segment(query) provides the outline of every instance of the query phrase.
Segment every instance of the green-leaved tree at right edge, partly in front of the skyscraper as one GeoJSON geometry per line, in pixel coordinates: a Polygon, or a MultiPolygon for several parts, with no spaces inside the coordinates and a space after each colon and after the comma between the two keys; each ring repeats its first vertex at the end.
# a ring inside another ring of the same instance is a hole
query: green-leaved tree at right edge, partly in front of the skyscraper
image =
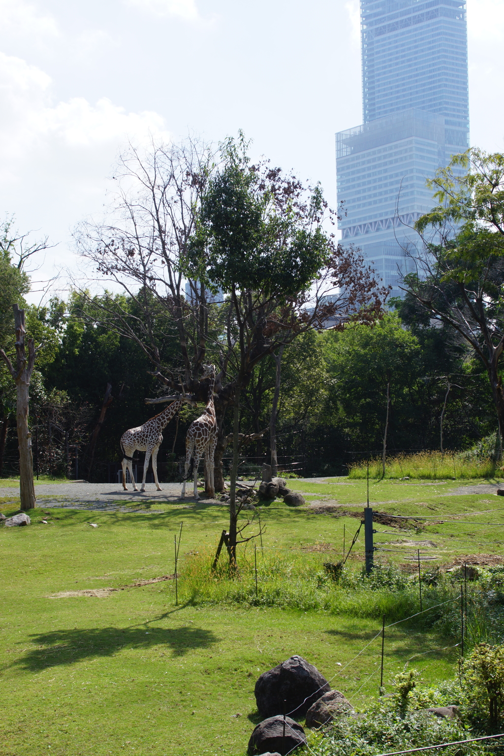
{"type": "Polygon", "coordinates": [[[416,222],[423,246],[410,252],[416,270],[404,278],[404,290],[433,321],[456,330],[484,365],[502,454],[504,155],[468,150],[439,169],[428,186],[439,204],[416,222]]]}

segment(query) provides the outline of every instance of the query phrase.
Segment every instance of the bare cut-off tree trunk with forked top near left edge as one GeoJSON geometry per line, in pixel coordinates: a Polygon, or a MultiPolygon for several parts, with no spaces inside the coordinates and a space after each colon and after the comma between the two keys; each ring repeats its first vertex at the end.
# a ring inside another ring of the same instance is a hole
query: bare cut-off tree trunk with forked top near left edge
{"type": "Polygon", "coordinates": [[[17,444],[19,447],[19,488],[21,510],[32,510],[37,506],[35,485],[33,482],[33,457],[32,457],[32,434],[29,431],[29,380],[32,376],[35,364],[35,342],[33,339],[25,341],[24,310],[18,305],[12,305],[14,310],[14,324],[16,329],[16,366],[11,363],[3,349],[0,349],[0,357],[8,367],[14,383],[16,384],[16,421],[17,421],[17,444]],[[26,345],[28,356],[26,356],[26,345]]]}

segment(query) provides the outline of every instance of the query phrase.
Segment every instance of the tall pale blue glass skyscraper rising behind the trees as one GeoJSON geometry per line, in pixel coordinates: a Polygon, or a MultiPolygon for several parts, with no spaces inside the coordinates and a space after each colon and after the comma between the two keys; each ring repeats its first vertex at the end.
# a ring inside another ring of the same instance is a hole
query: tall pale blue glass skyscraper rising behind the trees
{"type": "Polygon", "coordinates": [[[400,295],[425,180],[469,147],[465,0],[360,0],[363,124],[336,134],[342,243],[400,295]]]}

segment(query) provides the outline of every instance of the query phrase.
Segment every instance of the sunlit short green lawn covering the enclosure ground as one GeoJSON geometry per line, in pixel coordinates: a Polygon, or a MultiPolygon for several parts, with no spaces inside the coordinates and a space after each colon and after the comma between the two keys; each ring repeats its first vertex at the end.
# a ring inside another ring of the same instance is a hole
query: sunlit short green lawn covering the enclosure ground
{"type": "MultiPolygon", "coordinates": [[[[344,526],[348,547],[366,501],[366,481],[289,485],[314,507],[261,507],[264,559],[305,559],[307,569],[320,570],[322,562],[341,558],[344,526]]],[[[376,512],[432,518],[402,521],[400,528],[377,524],[382,532],[375,544],[397,548],[382,557],[404,562],[415,539],[435,544],[421,548],[437,556],[436,563],[475,553],[502,555],[500,498],[458,488],[453,481],[372,482],[369,499],[376,512]]],[[[136,513],[91,513],[47,510],[39,503],[29,528],[0,531],[2,756],[241,756],[258,721],[255,680],[295,653],[333,678],[332,686],[354,705],[365,706],[377,695],[379,640],[345,667],[379,632],[375,618],[191,603],[183,575],[179,606],[173,580],[134,586],[174,572],[173,540],[181,521],[183,559],[190,552],[212,553],[227,525],[226,507],[147,502],[136,513]],[[103,597],[54,597],[79,590],[101,590],[103,597]]],[[[0,503],[0,510],[8,515],[15,504],[0,503]]],[[[354,553],[351,564],[358,570],[362,535],[354,553]]],[[[391,628],[385,684],[411,656],[450,643],[415,624],[391,628]]],[[[443,680],[453,676],[456,654],[430,652],[414,664],[425,680],[443,680]]]]}

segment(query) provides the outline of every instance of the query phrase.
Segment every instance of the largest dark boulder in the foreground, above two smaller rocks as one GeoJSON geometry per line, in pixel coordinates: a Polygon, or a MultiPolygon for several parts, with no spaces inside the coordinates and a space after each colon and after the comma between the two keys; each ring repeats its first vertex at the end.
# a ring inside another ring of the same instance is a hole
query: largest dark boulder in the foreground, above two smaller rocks
{"type": "Polygon", "coordinates": [[[283,702],[289,714],[302,717],[323,693],[331,687],[326,678],[301,656],[263,672],[255,683],[255,701],[259,714],[274,717],[283,714],[283,702]]]}

